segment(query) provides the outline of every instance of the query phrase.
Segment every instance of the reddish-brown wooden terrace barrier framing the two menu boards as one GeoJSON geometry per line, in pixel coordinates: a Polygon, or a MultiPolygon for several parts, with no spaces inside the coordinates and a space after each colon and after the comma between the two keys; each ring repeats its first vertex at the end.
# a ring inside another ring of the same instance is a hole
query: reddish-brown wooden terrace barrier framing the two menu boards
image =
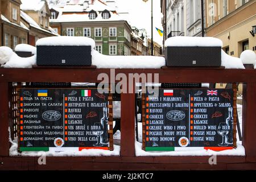
{"type": "Polygon", "coordinates": [[[120,156],[47,157],[47,165],[39,165],[38,157],[9,156],[9,125],[16,114],[12,82],[97,82],[97,76],[110,69],[32,68],[0,69],[0,169],[63,170],[176,170],[176,169],[256,169],[256,70],[214,68],[115,69],[115,74],[159,73],[159,82],[243,82],[242,144],[246,156],[135,156],[134,93],[121,94],[120,156]]]}

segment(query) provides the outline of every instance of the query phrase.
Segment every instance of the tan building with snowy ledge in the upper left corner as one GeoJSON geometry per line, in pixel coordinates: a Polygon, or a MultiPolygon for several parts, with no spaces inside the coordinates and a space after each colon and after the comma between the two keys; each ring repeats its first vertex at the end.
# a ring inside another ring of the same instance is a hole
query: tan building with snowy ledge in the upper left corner
{"type": "Polygon", "coordinates": [[[27,43],[29,29],[20,20],[19,0],[1,0],[1,44],[12,49],[27,43]]]}

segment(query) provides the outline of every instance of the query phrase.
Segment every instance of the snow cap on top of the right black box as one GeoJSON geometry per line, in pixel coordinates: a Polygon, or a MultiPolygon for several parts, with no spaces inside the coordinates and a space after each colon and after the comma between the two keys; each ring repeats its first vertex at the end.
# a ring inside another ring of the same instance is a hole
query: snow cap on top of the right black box
{"type": "Polygon", "coordinates": [[[222,41],[212,37],[197,37],[197,36],[173,36],[168,38],[164,46],[184,46],[184,47],[222,47],[222,41]]]}

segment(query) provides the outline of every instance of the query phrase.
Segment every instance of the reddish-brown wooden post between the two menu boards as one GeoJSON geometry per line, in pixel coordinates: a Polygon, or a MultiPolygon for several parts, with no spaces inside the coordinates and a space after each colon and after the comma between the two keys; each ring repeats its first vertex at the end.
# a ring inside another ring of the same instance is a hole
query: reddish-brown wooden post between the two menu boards
{"type": "Polygon", "coordinates": [[[134,93],[121,93],[121,156],[135,156],[134,97],[134,93]]]}

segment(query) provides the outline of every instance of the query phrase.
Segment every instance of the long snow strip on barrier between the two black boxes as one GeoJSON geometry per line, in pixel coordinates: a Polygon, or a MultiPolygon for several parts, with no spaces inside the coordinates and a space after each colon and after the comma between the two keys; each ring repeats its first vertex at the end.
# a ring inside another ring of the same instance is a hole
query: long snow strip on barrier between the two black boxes
{"type": "Polygon", "coordinates": [[[97,68],[161,68],[166,65],[164,57],[157,56],[108,56],[92,51],[92,65],[97,68]]]}

